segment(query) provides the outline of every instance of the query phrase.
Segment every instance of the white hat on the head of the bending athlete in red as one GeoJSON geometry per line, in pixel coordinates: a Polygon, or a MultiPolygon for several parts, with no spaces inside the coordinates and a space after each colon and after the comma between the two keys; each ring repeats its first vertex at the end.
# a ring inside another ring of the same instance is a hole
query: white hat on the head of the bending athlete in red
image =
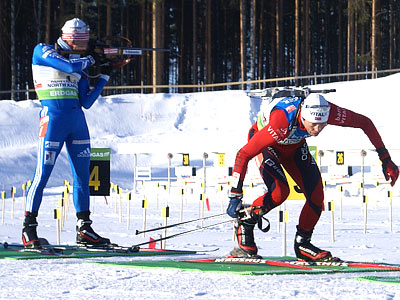
{"type": "Polygon", "coordinates": [[[326,123],[330,108],[324,96],[312,93],[301,104],[301,117],[311,123],[326,123]]]}

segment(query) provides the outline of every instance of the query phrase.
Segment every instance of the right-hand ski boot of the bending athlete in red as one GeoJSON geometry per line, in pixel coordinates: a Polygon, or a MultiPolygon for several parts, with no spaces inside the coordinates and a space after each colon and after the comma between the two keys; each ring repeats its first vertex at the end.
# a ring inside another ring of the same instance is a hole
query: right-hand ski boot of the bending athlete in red
{"type": "Polygon", "coordinates": [[[306,232],[297,226],[297,233],[294,240],[294,252],[299,260],[308,262],[338,260],[338,258],[333,257],[329,251],[321,250],[311,244],[311,235],[312,232],[306,232]]]}

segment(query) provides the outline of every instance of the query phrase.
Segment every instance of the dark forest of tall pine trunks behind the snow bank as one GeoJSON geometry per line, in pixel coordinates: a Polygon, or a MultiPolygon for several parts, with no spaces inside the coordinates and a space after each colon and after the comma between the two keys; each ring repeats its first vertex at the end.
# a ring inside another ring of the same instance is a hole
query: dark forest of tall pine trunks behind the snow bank
{"type": "MultiPolygon", "coordinates": [[[[397,0],[2,0],[0,92],[33,88],[34,46],[55,43],[73,17],[89,24],[91,38],[124,36],[135,47],[171,49],[135,56],[109,86],[198,85],[400,67],[397,0]]],[[[0,99],[10,94],[0,93],[0,99]]]]}

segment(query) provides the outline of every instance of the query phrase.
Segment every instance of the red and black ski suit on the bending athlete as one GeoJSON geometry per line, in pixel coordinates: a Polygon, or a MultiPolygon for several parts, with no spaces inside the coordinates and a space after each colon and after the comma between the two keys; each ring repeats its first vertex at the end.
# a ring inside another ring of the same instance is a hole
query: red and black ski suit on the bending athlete
{"type": "MultiPolygon", "coordinates": [[[[369,118],[333,103],[329,104],[329,125],[360,128],[376,149],[384,147],[369,118]]],[[[264,124],[263,120],[260,122],[260,118],[253,124],[247,144],[236,155],[233,168],[236,181],[232,192],[242,192],[248,162],[257,156],[257,165],[268,192],[254,200],[252,206],[261,206],[261,213],[268,213],[281,205],[289,195],[283,166],[305,195],[306,202],[300,214],[298,228],[311,236],[321,215],[324,193],[321,173],[308,151],[305,138],[310,135],[302,124],[300,107],[300,98],[284,98],[271,110],[269,119],[264,117],[264,124]]],[[[258,213],[259,210],[255,212],[258,213]]]]}

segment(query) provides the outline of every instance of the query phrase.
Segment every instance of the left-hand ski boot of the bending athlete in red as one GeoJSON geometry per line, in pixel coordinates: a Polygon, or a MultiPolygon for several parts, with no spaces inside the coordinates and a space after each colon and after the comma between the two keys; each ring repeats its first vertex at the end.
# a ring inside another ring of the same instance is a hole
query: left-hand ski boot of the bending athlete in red
{"type": "MultiPolygon", "coordinates": [[[[242,211],[245,211],[243,209],[242,211]]],[[[257,255],[257,245],[254,242],[254,226],[258,222],[258,215],[253,212],[242,213],[234,221],[235,235],[239,248],[231,252],[235,257],[262,258],[257,255]]]]}

